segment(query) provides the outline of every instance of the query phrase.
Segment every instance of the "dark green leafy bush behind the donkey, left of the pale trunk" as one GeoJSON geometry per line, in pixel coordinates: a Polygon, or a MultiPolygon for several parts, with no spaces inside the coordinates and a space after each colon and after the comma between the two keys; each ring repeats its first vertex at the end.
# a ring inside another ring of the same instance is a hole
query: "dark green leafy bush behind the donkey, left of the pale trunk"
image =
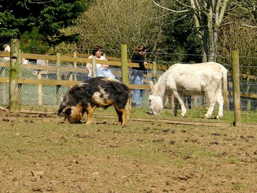
{"type": "Polygon", "coordinates": [[[194,21],[189,15],[170,14],[166,18],[163,31],[167,39],[160,46],[168,55],[166,61],[201,62],[200,45],[194,27],[194,21]],[[175,21],[175,22],[174,22],[175,21]]]}

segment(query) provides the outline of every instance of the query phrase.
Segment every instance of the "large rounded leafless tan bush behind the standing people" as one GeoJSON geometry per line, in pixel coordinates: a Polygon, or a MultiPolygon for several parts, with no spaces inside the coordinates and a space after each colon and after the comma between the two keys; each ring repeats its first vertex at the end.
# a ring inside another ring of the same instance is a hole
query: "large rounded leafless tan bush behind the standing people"
{"type": "Polygon", "coordinates": [[[91,49],[98,44],[112,56],[120,56],[121,44],[133,51],[137,45],[154,50],[164,38],[159,14],[160,8],[147,1],[96,0],[74,28],[81,38],[78,47],[91,49]]]}

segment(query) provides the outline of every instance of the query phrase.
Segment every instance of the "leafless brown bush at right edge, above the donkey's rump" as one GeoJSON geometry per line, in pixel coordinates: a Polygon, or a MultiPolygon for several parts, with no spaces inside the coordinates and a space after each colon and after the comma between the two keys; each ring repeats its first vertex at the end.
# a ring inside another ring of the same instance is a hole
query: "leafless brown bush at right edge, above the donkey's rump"
{"type": "MultiPolygon", "coordinates": [[[[244,23],[244,18],[234,18],[234,23],[244,23]]],[[[242,25],[231,24],[221,27],[218,41],[217,60],[227,69],[232,70],[231,51],[239,50],[240,73],[256,76],[257,71],[257,30],[242,25]],[[235,33],[236,32],[236,33],[235,33]]]]}

